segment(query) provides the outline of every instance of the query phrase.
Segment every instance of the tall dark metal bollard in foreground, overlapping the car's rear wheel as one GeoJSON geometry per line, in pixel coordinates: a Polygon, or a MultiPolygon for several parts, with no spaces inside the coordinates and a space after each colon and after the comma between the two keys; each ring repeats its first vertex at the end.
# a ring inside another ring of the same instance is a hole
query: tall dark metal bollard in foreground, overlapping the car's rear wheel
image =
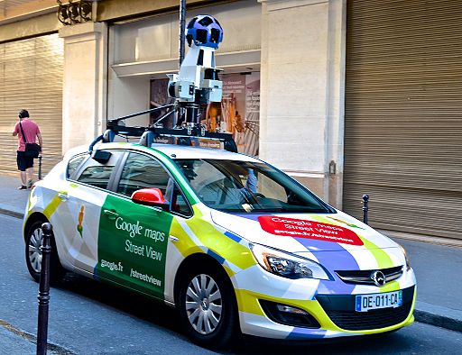
{"type": "Polygon", "coordinates": [[[51,236],[53,227],[51,223],[42,224],[43,241],[42,250],[42,270],[40,273],[39,286],[39,319],[37,324],[37,355],[47,353],[48,337],[48,305],[50,303],[50,257],[51,257],[51,236]]]}

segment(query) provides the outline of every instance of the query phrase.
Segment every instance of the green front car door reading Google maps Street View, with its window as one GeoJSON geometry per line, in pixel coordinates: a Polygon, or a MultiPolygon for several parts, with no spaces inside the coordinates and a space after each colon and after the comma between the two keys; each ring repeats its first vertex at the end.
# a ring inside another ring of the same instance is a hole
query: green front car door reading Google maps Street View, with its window
{"type": "Polygon", "coordinates": [[[157,187],[168,199],[170,176],[148,155],[130,152],[115,194],[101,210],[97,275],[163,299],[165,261],[172,214],[138,205],[130,196],[157,187]]]}

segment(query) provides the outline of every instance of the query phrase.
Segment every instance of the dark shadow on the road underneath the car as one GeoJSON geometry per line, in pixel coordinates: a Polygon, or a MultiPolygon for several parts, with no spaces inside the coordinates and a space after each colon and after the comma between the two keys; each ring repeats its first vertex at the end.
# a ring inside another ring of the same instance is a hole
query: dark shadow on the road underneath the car
{"type": "MultiPolygon", "coordinates": [[[[68,273],[58,284],[53,286],[63,292],[70,292],[83,296],[105,306],[109,306],[131,317],[141,319],[158,329],[175,333],[182,341],[189,342],[182,331],[180,318],[174,308],[149,298],[141,296],[110,284],[68,273]]],[[[233,341],[226,350],[219,350],[222,354],[369,354],[387,353],[384,344],[393,344],[400,350],[411,349],[405,339],[397,332],[368,335],[361,337],[337,338],[333,340],[310,341],[275,341],[252,336],[241,335],[233,341]],[[408,346],[407,346],[408,345],[408,346]],[[352,351],[354,349],[354,351],[352,351]]],[[[394,348],[394,346],[393,346],[394,348]]],[[[388,348],[390,349],[390,348],[388,348]]]]}

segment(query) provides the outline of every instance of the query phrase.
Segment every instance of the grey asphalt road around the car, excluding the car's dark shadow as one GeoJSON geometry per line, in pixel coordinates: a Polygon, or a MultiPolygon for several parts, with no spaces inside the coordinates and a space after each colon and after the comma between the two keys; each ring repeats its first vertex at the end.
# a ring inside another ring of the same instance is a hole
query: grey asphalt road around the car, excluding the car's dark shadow
{"type": "MultiPolygon", "coordinates": [[[[37,284],[25,267],[21,221],[0,215],[0,225],[0,327],[5,332],[8,323],[33,334],[37,284]]],[[[71,274],[59,287],[51,288],[49,339],[77,354],[212,353],[188,341],[171,308],[71,274]]],[[[291,345],[246,338],[222,352],[457,354],[460,349],[462,333],[415,323],[388,335],[327,344],[291,345]]]]}

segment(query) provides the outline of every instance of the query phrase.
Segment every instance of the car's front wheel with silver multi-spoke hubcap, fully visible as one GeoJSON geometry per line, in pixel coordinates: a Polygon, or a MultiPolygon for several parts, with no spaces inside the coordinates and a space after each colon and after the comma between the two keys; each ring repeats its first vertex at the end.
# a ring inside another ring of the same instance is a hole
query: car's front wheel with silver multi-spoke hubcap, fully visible
{"type": "Polygon", "coordinates": [[[180,279],[178,302],[181,323],[198,345],[220,349],[236,336],[235,291],[216,265],[189,269],[180,279]]]}

